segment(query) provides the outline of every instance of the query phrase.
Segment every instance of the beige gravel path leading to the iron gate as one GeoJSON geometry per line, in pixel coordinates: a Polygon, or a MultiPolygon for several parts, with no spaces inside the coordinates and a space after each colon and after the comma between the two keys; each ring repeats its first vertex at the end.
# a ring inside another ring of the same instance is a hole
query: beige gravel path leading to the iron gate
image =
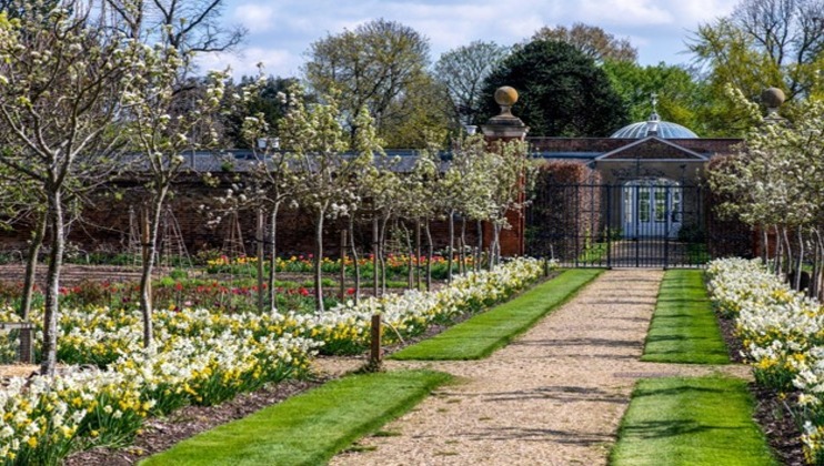
{"type": "Polygon", "coordinates": [[[332,465],[602,465],[637,378],[723,372],[639,361],[663,272],[609,271],[516,342],[474,362],[388,362],[455,375],[332,465]],[[374,448],[374,449],[372,449],[374,448]]]}

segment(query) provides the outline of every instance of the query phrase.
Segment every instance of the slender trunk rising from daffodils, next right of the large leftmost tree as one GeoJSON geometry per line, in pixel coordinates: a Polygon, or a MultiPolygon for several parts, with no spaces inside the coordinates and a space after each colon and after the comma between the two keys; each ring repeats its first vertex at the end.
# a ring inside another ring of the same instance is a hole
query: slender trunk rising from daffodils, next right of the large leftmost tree
{"type": "Polygon", "coordinates": [[[140,312],[143,317],[143,347],[149,347],[154,340],[152,325],[152,270],[154,252],[158,247],[160,216],[165,201],[167,190],[161,189],[143,215],[143,270],[140,274],[140,312]]]}

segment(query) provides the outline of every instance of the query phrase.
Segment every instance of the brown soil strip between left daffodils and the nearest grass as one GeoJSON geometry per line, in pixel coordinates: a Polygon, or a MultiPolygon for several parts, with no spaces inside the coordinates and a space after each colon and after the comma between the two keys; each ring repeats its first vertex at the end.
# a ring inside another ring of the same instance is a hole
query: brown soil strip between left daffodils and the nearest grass
{"type": "Polygon", "coordinates": [[[128,466],[221,424],[240,419],[321,385],[322,379],[288,381],[237,396],[218,406],[188,406],[165,418],[149,418],[134,443],[127,448],[92,448],[63,459],[64,466],[128,466]]]}

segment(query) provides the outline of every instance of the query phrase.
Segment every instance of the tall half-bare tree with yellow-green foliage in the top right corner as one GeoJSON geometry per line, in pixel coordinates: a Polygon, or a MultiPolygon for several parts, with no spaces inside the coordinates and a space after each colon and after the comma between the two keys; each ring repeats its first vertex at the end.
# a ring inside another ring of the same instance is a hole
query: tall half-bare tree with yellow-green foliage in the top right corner
{"type": "Polygon", "coordinates": [[[701,119],[711,134],[742,135],[747,129],[748,115],[727,98],[727,84],[751,100],[778,87],[790,107],[822,95],[822,18],[824,3],[816,0],[745,0],[728,17],[699,27],[689,50],[709,85],[701,119]]]}

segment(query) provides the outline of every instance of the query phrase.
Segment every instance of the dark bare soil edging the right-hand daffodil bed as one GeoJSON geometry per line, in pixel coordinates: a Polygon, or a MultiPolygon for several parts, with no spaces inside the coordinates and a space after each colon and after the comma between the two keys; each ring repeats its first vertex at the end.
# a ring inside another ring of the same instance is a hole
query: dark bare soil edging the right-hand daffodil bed
{"type": "MultiPolygon", "coordinates": [[[[744,346],[741,340],[735,336],[735,323],[733,320],[719,317],[719,326],[726,342],[726,347],[730,351],[730,358],[735,363],[745,363],[742,353],[744,346]]],[[[775,457],[783,465],[805,465],[801,432],[787,407],[794,403],[793,398],[796,395],[790,394],[785,399],[782,399],[775,391],[755,383],[751,383],[748,388],[753,398],[755,398],[755,413],[753,417],[764,432],[775,457]]]]}

